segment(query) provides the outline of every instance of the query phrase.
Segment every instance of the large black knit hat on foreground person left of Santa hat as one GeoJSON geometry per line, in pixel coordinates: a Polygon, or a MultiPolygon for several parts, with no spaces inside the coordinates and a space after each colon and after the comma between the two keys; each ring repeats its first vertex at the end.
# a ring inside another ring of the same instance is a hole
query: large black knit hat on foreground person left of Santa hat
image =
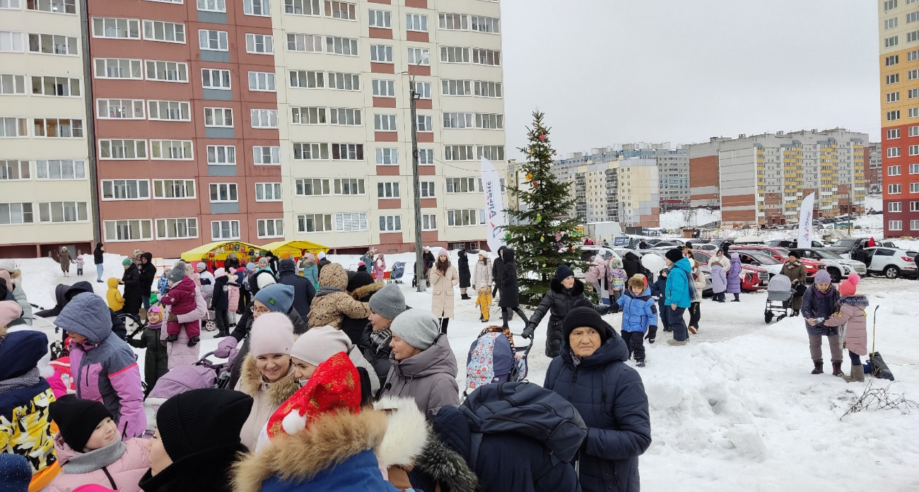
{"type": "Polygon", "coordinates": [[[156,429],[166,454],[177,462],[196,452],[239,444],[252,404],[252,396],[217,388],[169,398],[156,412],[156,429]]]}

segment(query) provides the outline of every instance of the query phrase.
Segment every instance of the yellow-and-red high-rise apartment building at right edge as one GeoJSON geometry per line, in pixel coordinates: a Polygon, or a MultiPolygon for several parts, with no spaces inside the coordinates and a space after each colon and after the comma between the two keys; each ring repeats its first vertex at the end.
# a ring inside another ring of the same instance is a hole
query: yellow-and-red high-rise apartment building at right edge
{"type": "Polygon", "coordinates": [[[919,235],[919,1],[879,0],[884,235],[919,235]]]}

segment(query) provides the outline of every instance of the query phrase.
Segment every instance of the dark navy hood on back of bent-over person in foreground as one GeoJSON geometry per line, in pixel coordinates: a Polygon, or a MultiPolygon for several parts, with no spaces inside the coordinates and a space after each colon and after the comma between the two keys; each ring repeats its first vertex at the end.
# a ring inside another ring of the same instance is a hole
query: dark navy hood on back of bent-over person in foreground
{"type": "Polygon", "coordinates": [[[459,406],[471,422],[471,466],[484,434],[516,432],[541,442],[553,460],[571,463],[587,436],[584,419],[568,400],[528,382],[485,384],[459,406]]]}

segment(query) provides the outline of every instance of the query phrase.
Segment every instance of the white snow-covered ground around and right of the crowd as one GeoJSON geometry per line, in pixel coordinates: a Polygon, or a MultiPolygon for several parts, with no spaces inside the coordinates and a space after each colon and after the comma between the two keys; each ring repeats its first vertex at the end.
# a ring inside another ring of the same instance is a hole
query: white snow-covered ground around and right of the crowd
{"type": "MultiPolygon", "coordinates": [[[[346,268],[357,265],[357,257],[331,259],[346,268]]],[[[411,254],[387,259],[405,261],[410,268],[414,263],[411,254]]],[[[107,257],[108,275],[119,274],[119,260],[107,257]]],[[[48,258],[20,264],[32,303],[50,306],[51,290],[60,281],[93,281],[104,295],[105,284],[95,283],[95,270],[86,269],[83,279],[63,279],[48,258]]],[[[402,285],[407,302],[429,308],[430,294],[411,290],[411,275],[406,271],[402,285]]],[[[919,315],[919,281],[869,278],[860,292],[872,304],[869,313],[880,306],[877,349],[897,378],[896,383],[875,384],[919,401],[919,330],[913,325],[919,315]]],[[[641,457],[642,490],[919,490],[919,412],[872,410],[841,419],[866,383],[811,375],[803,320],[766,325],[766,294],[743,294],[741,299],[702,303],[700,332],[686,347],[666,345],[663,332],[648,346],[648,366],[639,371],[651,402],[653,442],[641,457]]],[[[460,387],[465,385],[466,354],[485,326],[474,303],[460,301],[457,289],[457,319],[450,322],[449,338],[459,362],[460,387]]],[[[617,328],[620,318],[606,316],[617,328]]],[[[492,321],[500,324],[496,306],[492,321]]],[[[543,354],[547,322],[548,316],[529,355],[529,379],[536,383],[542,383],[550,362],[543,354]]],[[[522,328],[518,318],[512,321],[513,331],[522,328]]],[[[204,334],[202,353],[216,348],[212,336],[204,334]]],[[[825,342],[823,350],[828,360],[825,342]]],[[[847,372],[847,357],[843,367],[847,372]]]]}

